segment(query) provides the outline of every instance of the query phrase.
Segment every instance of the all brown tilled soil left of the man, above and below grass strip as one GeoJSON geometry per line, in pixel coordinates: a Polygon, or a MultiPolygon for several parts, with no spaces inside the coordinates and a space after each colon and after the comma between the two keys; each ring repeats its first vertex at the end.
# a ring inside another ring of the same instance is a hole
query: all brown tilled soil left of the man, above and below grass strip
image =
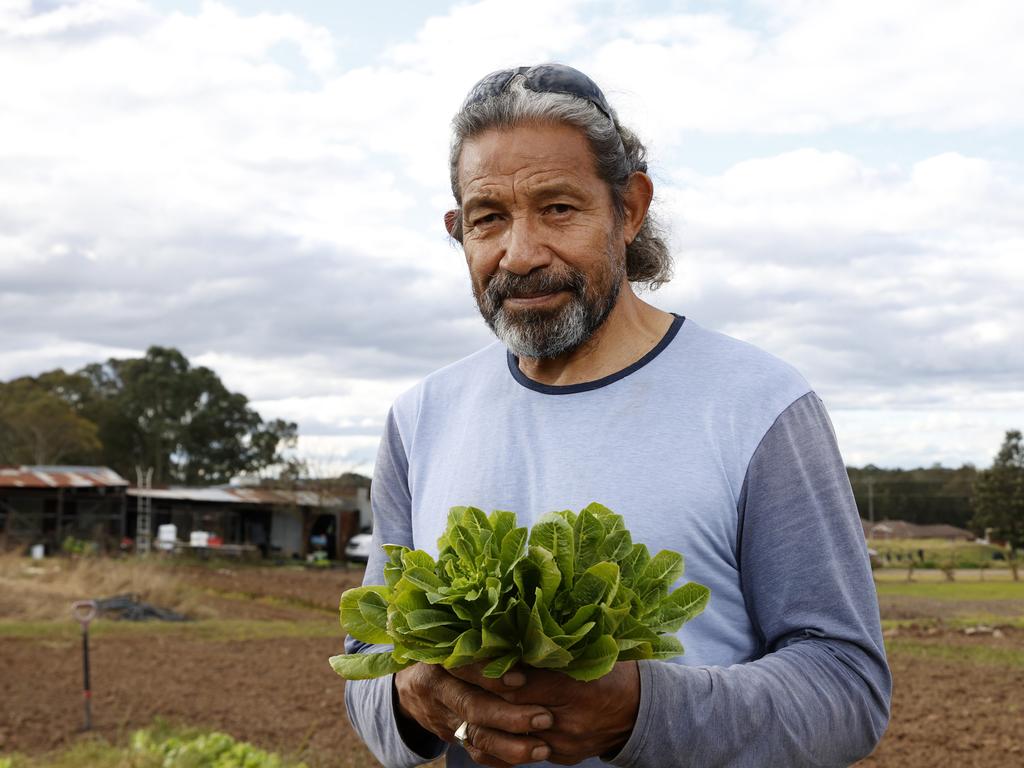
{"type": "MultiPolygon", "coordinates": [[[[216,620],[276,622],[311,637],[244,637],[152,624],[90,641],[93,730],[123,740],[158,716],[214,728],[310,768],[347,768],[376,761],[345,716],[344,681],[328,658],[341,652],[337,622],[341,592],[361,570],[175,568],[201,595],[203,614],[216,620]],[[141,630],[141,631],[137,631],[141,630]]],[[[3,616],[0,616],[2,618],[3,616]]],[[[118,628],[122,629],[122,628],[118,628]]],[[[0,637],[0,754],[39,754],[80,738],[81,640],[0,637]]]]}

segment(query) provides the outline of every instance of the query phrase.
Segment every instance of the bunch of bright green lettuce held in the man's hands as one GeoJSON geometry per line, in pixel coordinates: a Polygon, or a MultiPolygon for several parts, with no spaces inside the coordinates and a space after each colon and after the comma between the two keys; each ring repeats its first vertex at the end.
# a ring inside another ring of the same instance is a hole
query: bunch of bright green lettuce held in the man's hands
{"type": "Polygon", "coordinates": [[[434,560],[386,544],[385,584],[344,592],[342,629],[394,650],[332,656],[335,672],[358,680],[417,662],[484,662],[498,678],[522,663],[595,680],[615,662],[681,654],[674,633],[711,595],[693,582],[670,592],[682,555],[651,557],[597,503],[546,514],[528,534],[513,512],[453,507],[437,546],[434,560]]]}

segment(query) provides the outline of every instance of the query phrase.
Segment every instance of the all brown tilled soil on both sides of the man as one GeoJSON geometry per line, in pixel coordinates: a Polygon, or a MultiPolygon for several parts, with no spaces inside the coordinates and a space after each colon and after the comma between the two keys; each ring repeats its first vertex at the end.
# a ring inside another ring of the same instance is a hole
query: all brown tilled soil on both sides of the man
{"type": "MultiPolygon", "coordinates": [[[[221,620],[274,621],[308,636],[230,639],[190,628],[116,632],[91,643],[96,731],[122,740],[162,716],[216,728],[311,768],[375,765],[344,714],[344,681],[327,664],[342,646],[336,606],[358,571],[196,568],[181,575],[221,620]]],[[[1024,765],[1024,631],[890,633],[892,724],[862,765],[1024,765]],[[978,658],[991,649],[996,660],[978,658]],[[932,651],[936,652],[933,653],[932,651]]],[[[39,754],[80,738],[80,641],[0,638],[0,754],[39,754]]]]}

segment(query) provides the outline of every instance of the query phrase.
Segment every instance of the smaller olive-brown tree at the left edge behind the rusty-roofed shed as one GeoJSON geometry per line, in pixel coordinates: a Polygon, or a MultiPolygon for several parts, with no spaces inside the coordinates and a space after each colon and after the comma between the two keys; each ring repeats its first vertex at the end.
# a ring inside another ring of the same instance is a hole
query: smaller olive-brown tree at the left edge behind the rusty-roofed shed
{"type": "Polygon", "coordinates": [[[101,450],[96,425],[36,380],[0,382],[0,464],[90,464],[101,450]]]}

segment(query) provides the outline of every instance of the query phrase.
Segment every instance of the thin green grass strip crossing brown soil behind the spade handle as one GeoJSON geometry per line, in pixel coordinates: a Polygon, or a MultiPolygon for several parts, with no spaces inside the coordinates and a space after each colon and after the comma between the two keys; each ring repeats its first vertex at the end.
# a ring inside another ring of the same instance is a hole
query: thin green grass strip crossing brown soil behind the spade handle
{"type": "MultiPolygon", "coordinates": [[[[82,630],[72,622],[0,621],[0,638],[32,640],[78,640],[82,630]]],[[[344,637],[337,620],[325,616],[316,621],[256,621],[216,618],[203,622],[112,622],[99,620],[89,628],[90,639],[162,635],[203,641],[237,642],[270,640],[284,637],[344,637]]],[[[0,767],[2,768],[2,767],[0,767]]]]}

